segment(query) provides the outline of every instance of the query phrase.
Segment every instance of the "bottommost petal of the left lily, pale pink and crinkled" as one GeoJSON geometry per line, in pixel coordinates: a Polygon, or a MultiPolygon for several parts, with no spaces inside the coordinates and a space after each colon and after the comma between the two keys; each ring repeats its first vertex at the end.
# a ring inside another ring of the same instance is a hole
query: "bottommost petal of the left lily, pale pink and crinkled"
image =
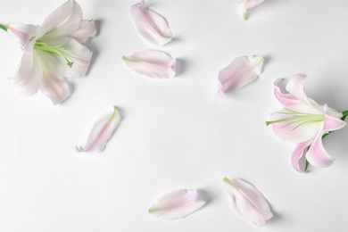
{"type": "Polygon", "coordinates": [[[54,105],[62,103],[70,95],[69,86],[65,79],[57,75],[56,72],[48,69],[43,70],[42,77],[40,90],[52,100],[54,105]]]}

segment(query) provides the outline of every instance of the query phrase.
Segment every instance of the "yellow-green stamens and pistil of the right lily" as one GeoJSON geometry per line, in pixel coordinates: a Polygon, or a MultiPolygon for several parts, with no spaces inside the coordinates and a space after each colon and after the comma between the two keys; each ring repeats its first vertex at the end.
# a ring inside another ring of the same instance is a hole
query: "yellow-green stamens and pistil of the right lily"
{"type": "Polygon", "coordinates": [[[266,121],[266,126],[269,126],[273,123],[278,122],[286,122],[288,121],[284,127],[292,125],[294,123],[298,123],[298,125],[295,128],[298,128],[299,126],[305,124],[305,123],[313,123],[313,122],[320,122],[324,120],[324,114],[312,114],[312,113],[305,113],[305,112],[294,112],[289,109],[285,109],[287,112],[277,112],[278,114],[285,114],[288,117],[279,119],[279,120],[268,120],[266,121]]]}

